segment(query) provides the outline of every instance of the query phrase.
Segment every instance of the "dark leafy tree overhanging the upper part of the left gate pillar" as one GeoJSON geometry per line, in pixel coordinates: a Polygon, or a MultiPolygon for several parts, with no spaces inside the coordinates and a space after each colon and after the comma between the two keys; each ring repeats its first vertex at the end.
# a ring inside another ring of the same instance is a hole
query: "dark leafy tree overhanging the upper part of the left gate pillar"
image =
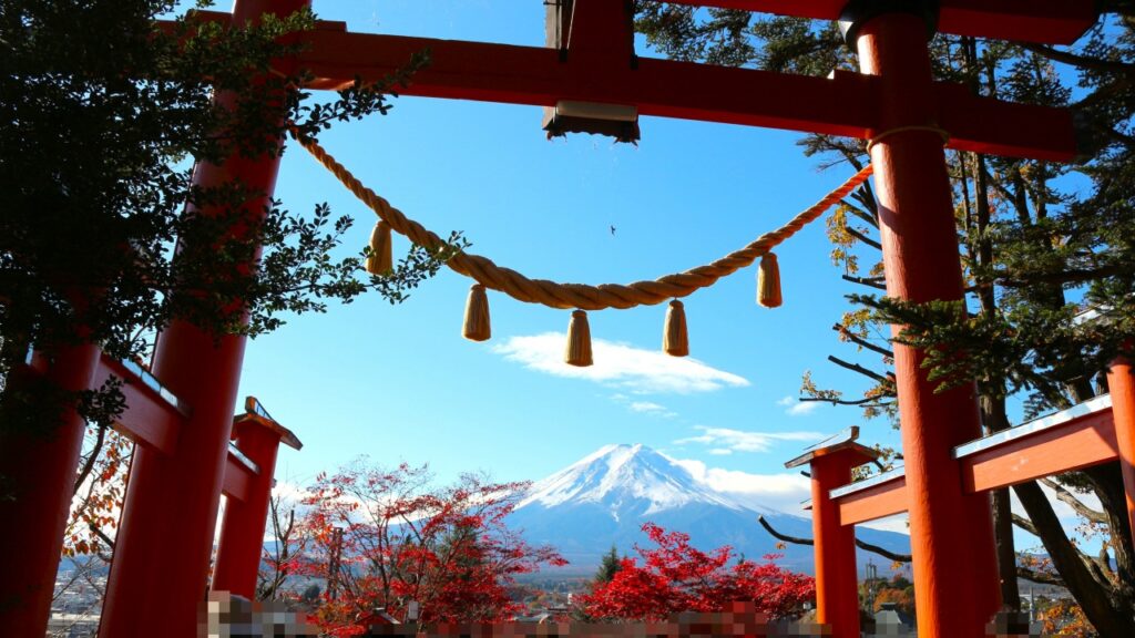
{"type": "Polygon", "coordinates": [[[74,396],[12,377],[32,346],[51,355],[95,343],[144,360],[174,320],[218,337],[255,336],[288,312],[322,312],[369,289],[401,300],[442,263],[429,257],[389,277],[360,277],[363,254],[333,257],[348,218],[334,219],[326,205],[294,215],[278,202],[260,218],[244,210],[259,193],[242,183],[191,184],[194,162],[278,153],[288,132],[314,137],[333,123],[386,114],[386,94],[424,54],[382,82],[313,103],[295,89],[302,74],[274,66],[297,50],[288,34],[314,26],[310,12],[232,28],[192,12],[155,22],[177,5],[0,7],[0,445],[50,436],[56,406],[77,401],[102,429],[123,408],[114,381],[74,396]]]}

